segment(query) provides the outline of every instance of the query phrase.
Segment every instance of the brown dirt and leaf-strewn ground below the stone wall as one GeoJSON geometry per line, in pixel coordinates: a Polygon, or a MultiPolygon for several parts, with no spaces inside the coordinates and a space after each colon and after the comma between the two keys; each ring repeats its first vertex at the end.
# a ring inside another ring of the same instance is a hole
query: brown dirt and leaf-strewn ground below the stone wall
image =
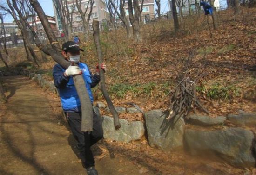
{"type": "MultiPolygon", "coordinates": [[[[8,98],[1,103],[1,175],[85,175],[78,150],[63,120],[57,95],[24,76],[3,79],[8,98]]],[[[100,175],[209,174],[255,175],[182,150],[151,148],[145,139],[132,143],[101,140],[93,147],[100,175]]]]}

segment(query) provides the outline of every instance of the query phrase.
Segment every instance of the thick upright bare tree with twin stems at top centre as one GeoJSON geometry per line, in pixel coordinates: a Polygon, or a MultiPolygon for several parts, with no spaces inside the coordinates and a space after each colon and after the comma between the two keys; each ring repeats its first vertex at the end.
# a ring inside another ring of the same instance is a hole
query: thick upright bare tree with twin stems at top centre
{"type": "Polygon", "coordinates": [[[135,42],[141,41],[140,25],[139,25],[139,2],[137,0],[128,0],[129,19],[133,26],[133,36],[135,42]],[[134,10],[134,14],[133,14],[134,10]]]}

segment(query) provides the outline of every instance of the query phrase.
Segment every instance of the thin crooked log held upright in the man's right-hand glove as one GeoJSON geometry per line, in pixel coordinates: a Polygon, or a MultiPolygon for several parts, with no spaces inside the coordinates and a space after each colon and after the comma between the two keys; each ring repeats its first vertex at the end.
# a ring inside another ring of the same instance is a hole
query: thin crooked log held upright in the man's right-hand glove
{"type": "MultiPolygon", "coordinates": [[[[101,51],[101,44],[100,44],[99,21],[93,20],[93,29],[94,29],[94,43],[95,43],[96,50],[98,53],[99,65],[101,65],[103,63],[103,58],[102,58],[102,51],[101,51]]],[[[107,91],[107,88],[105,85],[104,71],[102,69],[100,69],[100,77],[101,77],[101,91],[102,91],[102,94],[103,94],[104,98],[106,99],[106,101],[108,103],[108,107],[114,117],[114,126],[115,126],[115,129],[117,130],[121,127],[121,125],[119,123],[118,113],[116,112],[115,107],[108,95],[108,91],[107,91]]]]}

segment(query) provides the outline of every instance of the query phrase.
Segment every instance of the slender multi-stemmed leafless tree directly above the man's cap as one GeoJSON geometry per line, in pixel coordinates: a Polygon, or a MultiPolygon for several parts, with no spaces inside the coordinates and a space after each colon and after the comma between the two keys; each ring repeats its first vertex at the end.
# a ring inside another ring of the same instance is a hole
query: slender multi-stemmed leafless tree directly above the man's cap
{"type": "Polygon", "coordinates": [[[75,10],[75,3],[72,0],[71,3],[67,0],[53,0],[54,7],[56,9],[56,13],[61,20],[62,31],[64,33],[64,40],[68,41],[72,38],[72,30],[73,30],[73,13],[75,10]]]}

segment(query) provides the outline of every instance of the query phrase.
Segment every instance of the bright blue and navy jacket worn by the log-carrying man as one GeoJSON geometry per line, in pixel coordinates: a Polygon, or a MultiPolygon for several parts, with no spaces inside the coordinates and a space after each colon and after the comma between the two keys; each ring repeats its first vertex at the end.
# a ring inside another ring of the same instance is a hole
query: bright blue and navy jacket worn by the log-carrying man
{"type": "MultiPolygon", "coordinates": [[[[95,87],[100,82],[100,75],[90,72],[85,63],[79,63],[82,69],[82,75],[86,83],[86,88],[91,102],[93,102],[93,93],[91,88],[95,87]]],[[[73,77],[64,76],[65,69],[61,65],[56,64],[53,68],[54,85],[59,91],[61,97],[61,105],[64,111],[81,111],[81,103],[74,87],[73,77]]]]}

